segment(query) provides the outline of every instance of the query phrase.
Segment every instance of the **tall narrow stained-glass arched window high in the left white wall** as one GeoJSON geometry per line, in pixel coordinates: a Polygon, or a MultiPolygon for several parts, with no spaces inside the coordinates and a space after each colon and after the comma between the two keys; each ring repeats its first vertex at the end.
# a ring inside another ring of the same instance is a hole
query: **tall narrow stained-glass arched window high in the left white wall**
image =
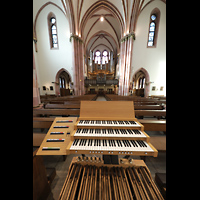
{"type": "Polygon", "coordinates": [[[51,49],[58,49],[58,33],[56,25],[56,16],[53,13],[48,15],[48,27],[49,27],[49,41],[51,49]]]}

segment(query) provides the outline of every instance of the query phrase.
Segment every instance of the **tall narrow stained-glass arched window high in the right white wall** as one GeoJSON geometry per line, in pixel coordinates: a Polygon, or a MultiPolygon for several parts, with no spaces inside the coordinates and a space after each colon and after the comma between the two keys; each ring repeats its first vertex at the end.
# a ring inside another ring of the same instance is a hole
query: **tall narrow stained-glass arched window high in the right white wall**
{"type": "Polygon", "coordinates": [[[159,21],[160,21],[160,10],[158,8],[155,8],[150,14],[147,47],[156,47],[159,21]]]}

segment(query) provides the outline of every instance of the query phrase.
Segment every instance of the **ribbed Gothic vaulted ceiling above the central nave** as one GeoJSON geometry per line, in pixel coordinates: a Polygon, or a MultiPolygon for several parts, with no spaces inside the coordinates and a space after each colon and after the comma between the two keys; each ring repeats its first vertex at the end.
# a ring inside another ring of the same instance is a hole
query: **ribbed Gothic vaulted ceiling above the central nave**
{"type": "Polygon", "coordinates": [[[72,32],[82,38],[88,54],[97,49],[119,53],[121,38],[135,30],[139,14],[154,0],[61,1],[71,20],[72,32]]]}

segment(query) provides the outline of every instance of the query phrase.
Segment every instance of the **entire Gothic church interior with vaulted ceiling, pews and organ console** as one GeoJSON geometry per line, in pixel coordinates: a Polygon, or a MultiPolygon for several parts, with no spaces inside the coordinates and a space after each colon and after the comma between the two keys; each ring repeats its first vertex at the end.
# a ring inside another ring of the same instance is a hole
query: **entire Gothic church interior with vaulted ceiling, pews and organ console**
{"type": "Polygon", "coordinates": [[[33,0],[33,199],[166,199],[166,0],[33,0]]]}

